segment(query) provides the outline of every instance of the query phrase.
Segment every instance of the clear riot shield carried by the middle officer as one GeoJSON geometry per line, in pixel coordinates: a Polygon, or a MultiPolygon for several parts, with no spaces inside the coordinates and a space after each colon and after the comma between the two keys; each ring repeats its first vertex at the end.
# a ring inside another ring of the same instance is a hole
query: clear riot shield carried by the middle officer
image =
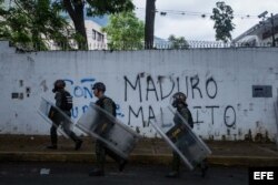
{"type": "Polygon", "coordinates": [[[90,103],[76,126],[101,141],[116,155],[127,160],[139,141],[139,135],[105,110],[90,103]]]}

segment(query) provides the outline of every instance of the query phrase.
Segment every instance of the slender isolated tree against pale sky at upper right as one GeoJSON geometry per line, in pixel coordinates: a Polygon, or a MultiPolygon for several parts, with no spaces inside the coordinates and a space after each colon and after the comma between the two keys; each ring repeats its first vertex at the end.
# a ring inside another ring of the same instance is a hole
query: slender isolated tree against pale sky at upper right
{"type": "Polygon", "coordinates": [[[230,32],[235,29],[232,23],[234,11],[230,6],[219,1],[216,3],[217,8],[212,9],[211,20],[215,21],[214,29],[216,29],[216,40],[228,42],[231,40],[230,32]]]}

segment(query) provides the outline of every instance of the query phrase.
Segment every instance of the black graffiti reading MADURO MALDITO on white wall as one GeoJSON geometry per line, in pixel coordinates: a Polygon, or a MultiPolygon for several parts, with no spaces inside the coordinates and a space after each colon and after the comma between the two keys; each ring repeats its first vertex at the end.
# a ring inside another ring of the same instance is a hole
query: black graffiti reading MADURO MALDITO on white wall
{"type": "MultiPolygon", "coordinates": [[[[125,80],[125,102],[128,104],[128,124],[132,124],[136,120],[140,119],[142,126],[149,126],[149,121],[156,119],[155,110],[160,109],[161,104],[169,104],[166,100],[171,97],[176,92],[185,92],[189,99],[214,100],[217,97],[218,85],[214,78],[206,79],[200,83],[198,75],[183,76],[183,78],[167,78],[138,74],[136,78],[129,79],[123,76],[125,80]],[[202,86],[201,86],[202,84],[202,86]],[[165,102],[166,101],[166,102],[165,102]],[[136,104],[135,102],[139,102],[136,104]]],[[[209,117],[206,122],[215,124],[216,115],[219,116],[218,110],[220,105],[206,105],[192,106],[193,121],[196,124],[205,123],[200,120],[200,113],[203,110],[209,111],[209,117]]],[[[222,107],[222,106],[221,106],[222,107]]],[[[224,123],[228,127],[236,124],[236,110],[232,105],[225,105],[222,111],[224,123]]]]}

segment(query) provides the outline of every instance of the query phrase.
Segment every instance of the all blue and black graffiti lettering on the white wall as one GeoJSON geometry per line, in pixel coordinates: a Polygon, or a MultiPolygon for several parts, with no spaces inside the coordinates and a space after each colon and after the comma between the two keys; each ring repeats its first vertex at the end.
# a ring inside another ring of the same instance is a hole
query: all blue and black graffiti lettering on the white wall
{"type": "MultiPolygon", "coordinates": [[[[72,117],[78,119],[87,111],[89,103],[96,101],[91,91],[96,79],[83,78],[79,81],[66,79],[64,81],[75,102],[79,102],[72,109],[72,117]]],[[[169,78],[138,74],[132,78],[125,75],[123,81],[123,102],[127,107],[126,112],[122,112],[121,105],[117,103],[117,116],[123,117],[126,115],[128,125],[139,127],[148,127],[150,120],[156,119],[157,109],[160,109],[161,104],[169,104],[169,99],[178,91],[185,92],[192,102],[193,100],[215,100],[219,91],[217,81],[212,76],[200,79],[199,75],[169,78]]],[[[195,124],[209,122],[214,125],[216,115],[218,116],[219,112],[222,112],[225,125],[227,127],[236,125],[236,110],[232,105],[205,104],[191,105],[191,107],[195,124]],[[209,117],[206,116],[206,120],[201,119],[203,112],[209,112],[209,117]]]]}

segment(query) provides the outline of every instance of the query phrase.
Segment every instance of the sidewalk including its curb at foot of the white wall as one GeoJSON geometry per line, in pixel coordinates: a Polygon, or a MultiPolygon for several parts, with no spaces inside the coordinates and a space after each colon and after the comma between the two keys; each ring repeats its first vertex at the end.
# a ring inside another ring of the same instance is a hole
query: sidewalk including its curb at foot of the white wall
{"type": "MultiPolygon", "coordinates": [[[[95,162],[93,141],[82,137],[83,145],[75,151],[71,140],[59,137],[58,150],[47,150],[50,137],[31,135],[0,135],[0,162],[95,162]]],[[[278,166],[275,143],[206,141],[212,154],[210,165],[224,166],[278,166]]],[[[108,158],[108,161],[110,161],[108,158]]],[[[141,140],[130,155],[132,164],[163,164],[171,162],[171,150],[159,138],[141,140]]]]}

